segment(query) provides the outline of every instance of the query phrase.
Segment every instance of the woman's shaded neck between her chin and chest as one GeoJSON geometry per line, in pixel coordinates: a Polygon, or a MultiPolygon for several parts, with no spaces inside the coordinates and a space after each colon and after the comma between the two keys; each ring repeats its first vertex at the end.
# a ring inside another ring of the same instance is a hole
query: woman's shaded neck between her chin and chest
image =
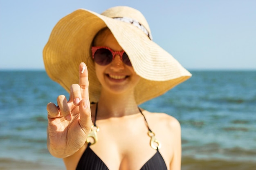
{"type": "Polygon", "coordinates": [[[101,92],[98,103],[99,117],[122,117],[139,113],[134,93],[109,94],[101,92]]]}

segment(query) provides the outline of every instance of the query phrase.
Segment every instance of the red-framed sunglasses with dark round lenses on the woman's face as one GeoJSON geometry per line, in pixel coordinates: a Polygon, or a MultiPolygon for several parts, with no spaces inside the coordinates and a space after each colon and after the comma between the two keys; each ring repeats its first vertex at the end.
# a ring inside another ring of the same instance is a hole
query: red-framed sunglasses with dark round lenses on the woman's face
{"type": "Polygon", "coordinates": [[[119,55],[124,64],[132,66],[130,59],[126,52],[123,51],[113,51],[106,46],[92,46],[92,58],[94,62],[101,66],[106,66],[114,60],[115,56],[119,55]]]}

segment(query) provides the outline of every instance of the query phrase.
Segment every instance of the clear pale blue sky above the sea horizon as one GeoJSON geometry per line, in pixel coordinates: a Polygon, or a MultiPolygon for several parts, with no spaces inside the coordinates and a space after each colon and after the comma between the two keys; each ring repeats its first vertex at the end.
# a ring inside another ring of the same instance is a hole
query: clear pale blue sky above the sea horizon
{"type": "Polygon", "coordinates": [[[187,69],[256,69],[256,0],[0,0],[0,69],[44,69],[54,25],[72,11],[141,11],[153,40],[187,69]]]}

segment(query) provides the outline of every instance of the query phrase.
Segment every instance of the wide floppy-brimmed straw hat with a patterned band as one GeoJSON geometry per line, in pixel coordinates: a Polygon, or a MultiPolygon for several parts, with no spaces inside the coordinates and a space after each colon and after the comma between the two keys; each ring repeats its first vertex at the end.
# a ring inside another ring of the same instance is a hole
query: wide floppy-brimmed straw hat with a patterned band
{"type": "Polygon", "coordinates": [[[101,14],[78,9],[62,18],[52,30],[43,50],[49,77],[68,92],[79,82],[79,64],[85,62],[89,74],[90,102],[97,102],[101,92],[91,57],[94,36],[108,27],[126,51],[135,72],[141,77],[135,87],[137,104],[164,94],[191,77],[172,55],[152,41],[144,16],[130,7],[112,7],[101,14]]]}

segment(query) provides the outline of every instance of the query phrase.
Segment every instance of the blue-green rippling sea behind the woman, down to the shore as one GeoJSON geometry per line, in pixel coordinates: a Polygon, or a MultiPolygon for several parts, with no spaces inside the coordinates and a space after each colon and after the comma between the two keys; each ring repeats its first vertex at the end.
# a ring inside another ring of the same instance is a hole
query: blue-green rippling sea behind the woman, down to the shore
{"type": "MultiPolygon", "coordinates": [[[[191,71],[140,106],[180,121],[182,170],[256,169],[256,71],[191,71]]],[[[64,170],[46,146],[49,102],[67,92],[45,71],[0,71],[0,170],[64,170]]]]}

